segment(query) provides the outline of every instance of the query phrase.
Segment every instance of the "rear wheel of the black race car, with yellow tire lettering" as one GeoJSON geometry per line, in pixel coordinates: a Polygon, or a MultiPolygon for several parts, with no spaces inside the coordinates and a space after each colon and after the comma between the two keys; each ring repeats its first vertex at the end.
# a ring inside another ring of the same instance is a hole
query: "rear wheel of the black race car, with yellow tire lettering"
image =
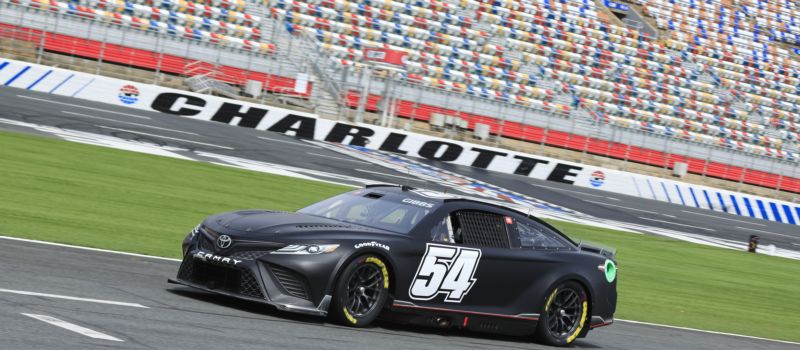
{"type": "Polygon", "coordinates": [[[559,284],[547,293],[536,325],[539,341],[567,346],[588,327],[589,299],[586,290],[574,281],[559,284]]]}

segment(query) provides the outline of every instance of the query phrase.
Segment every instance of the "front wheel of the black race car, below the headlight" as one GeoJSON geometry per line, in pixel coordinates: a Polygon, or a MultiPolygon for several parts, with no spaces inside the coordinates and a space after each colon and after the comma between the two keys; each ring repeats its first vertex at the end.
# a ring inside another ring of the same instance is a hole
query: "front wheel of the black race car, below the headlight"
{"type": "Polygon", "coordinates": [[[328,315],[351,327],[366,327],[383,311],[389,298],[389,268],[378,256],[363,255],[339,275],[328,315]]]}

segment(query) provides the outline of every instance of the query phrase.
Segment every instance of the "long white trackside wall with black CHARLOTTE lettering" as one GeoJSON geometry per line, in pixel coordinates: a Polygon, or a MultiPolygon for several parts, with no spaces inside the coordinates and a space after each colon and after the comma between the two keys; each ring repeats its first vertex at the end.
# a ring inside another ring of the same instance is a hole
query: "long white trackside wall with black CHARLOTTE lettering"
{"type": "Polygon", "coordinates": [[[687,184],[154,85],[0,60],[0,83],[174,117],[215,121],[287,135],[364,146],[459,165],[655,199],[679,205],[797,225],[800,206],[707,186],[687,184]]]}

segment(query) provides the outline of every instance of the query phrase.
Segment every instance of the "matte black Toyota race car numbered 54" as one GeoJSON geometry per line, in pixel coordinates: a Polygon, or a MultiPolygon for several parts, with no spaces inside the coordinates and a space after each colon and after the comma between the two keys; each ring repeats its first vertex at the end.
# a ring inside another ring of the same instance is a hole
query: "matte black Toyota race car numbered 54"
{"type": "Polygon", "coordinates": [[[503,206],[374,185],[295,213],[213,215],[172,283],[331,318],[536,335],[567,345],[612,323],[616,265],[503,206]]]}

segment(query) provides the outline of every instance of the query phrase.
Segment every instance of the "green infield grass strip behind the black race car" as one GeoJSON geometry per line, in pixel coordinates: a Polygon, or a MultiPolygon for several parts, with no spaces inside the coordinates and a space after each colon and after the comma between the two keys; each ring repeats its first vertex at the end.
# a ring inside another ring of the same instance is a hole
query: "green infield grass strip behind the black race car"
{"type": "MultiPolygon", "coordinates": [[[[209,214],[294,210],[347,189],[0,132],[0,235],[176,258],[209,214]]],[[[800,341],[800,261],[553,224],[617,248],[618,318],[800,341]]]]}

